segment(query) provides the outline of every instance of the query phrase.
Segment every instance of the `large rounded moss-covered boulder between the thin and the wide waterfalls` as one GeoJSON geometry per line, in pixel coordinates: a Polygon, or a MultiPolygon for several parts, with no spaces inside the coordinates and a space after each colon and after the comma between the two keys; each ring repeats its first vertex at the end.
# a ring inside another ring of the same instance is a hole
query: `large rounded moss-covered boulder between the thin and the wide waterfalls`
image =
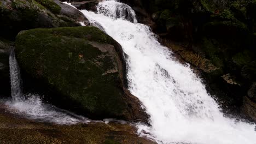
{"type": "Polygon", "coordinates": [[[24,85],[32,79],[31,86],[57,106],[95,119],[147,121],[140,101],[126,89],[121,46],[100,29],[22,31],[15,52],[24,85]]]}

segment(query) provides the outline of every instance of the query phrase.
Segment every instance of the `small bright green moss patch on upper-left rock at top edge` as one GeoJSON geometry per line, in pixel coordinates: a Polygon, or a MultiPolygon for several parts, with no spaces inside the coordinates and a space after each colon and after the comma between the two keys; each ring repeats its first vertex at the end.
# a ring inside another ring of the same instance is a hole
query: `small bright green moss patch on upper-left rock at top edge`
{"type": "Polygon", "coordinates": [[[42,4],[45,8],[49,9],[54,14],[60,14],[61,7],[57,5],[53,0],[36,0],[42,4]]]}

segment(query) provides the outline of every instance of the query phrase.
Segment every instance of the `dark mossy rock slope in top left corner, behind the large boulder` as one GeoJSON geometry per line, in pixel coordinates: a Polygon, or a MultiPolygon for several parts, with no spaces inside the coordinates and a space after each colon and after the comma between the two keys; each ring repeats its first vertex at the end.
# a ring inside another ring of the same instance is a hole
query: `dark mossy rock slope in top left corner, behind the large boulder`
{"type": "MultiPolygon", "coordinates": [[[[58,1],[55,2],[59,3],[58,1]]],[[[80,26],[77,23],[78,19],[79,21],[87,21],[85,17],[79,15],[78,10],[69,5],[66,5],[65,8],[60,7],[55,2],[52,0],[1,1],[0,37],[14,40],[16,34],[25,29],[80,26]],[[68,11],[68,9],[72,10],[68,11]],[[66,15],[65,11],[70,14],[66,15]]]]}

